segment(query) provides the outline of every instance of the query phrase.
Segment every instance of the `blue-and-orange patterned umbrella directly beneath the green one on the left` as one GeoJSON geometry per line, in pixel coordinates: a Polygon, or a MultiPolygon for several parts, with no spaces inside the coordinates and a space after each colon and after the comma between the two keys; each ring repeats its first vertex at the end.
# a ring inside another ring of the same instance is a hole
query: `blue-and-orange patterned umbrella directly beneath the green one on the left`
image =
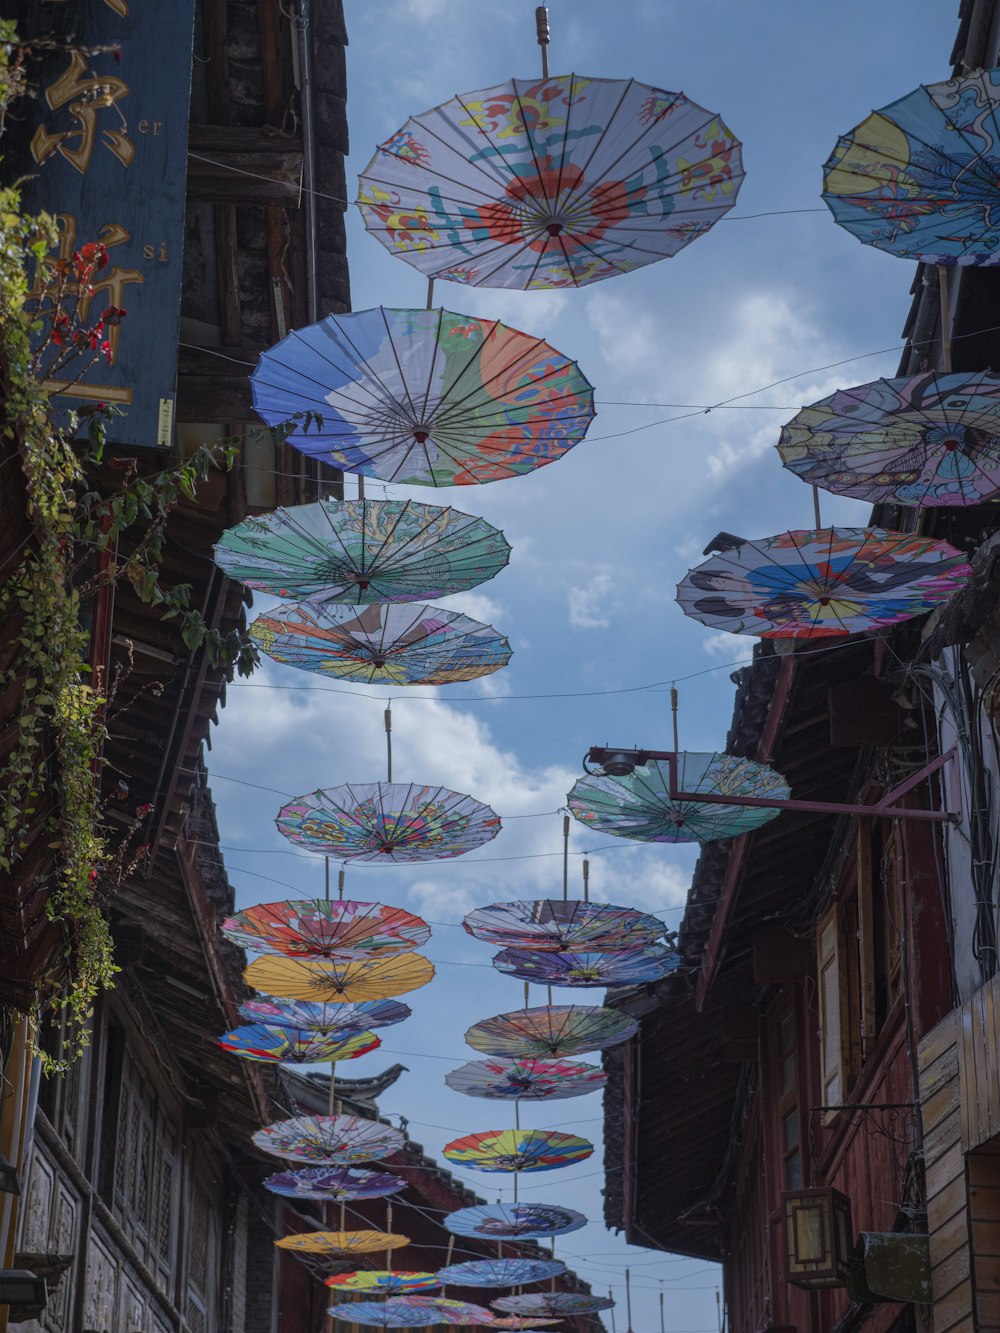
{"type": "Polygon", "coordinates": [[[511,645],[492,625],[439,607],[276,607],[249,628],[287,666],[365,685],[453,685],[500,670],[511,645]]]}

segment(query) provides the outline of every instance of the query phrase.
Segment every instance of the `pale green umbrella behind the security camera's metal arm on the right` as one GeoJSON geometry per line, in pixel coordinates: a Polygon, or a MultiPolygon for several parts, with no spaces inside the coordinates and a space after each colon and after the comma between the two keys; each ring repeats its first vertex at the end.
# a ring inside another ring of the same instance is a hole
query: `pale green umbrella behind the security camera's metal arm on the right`
{"type": "MultiPolygon", "coordinates": [[[[677,754],[677,788],[712,796],[759,796],[787,801],[788,782],[765,764],[735,754],[677,754]]],[[[713,842],[777,818],[763,805],[716,805],[671,796],[669,769],[653,760],[627,777],[588,774],[567,797],[569,812],[597,833],[640,842],[713,842]]]]}

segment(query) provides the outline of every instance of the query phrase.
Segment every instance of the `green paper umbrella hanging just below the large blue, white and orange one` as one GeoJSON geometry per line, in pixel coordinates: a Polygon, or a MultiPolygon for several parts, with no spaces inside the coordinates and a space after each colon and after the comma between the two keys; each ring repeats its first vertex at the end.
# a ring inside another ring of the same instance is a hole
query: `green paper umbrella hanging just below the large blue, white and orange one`
{"type": "Polygon", "coordinates": [[[216,564],[248,588],[299,601],[425,601],[475,588],[511,556],[483,519],[412,500],[317,500],[244,519],[216,564]]]}

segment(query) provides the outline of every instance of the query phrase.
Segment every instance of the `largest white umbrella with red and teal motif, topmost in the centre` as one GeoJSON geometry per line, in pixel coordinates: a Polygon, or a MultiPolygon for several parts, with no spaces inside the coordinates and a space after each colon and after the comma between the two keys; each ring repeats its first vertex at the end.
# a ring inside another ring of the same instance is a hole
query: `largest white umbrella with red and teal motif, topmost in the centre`
{"type": "Polygon", "coordinates": [[[553,75],[412,117],[361,172],[357,203],[428,277],[583,287],[676,255],[741,181],[739,141],[684,93],[553,75]]]}

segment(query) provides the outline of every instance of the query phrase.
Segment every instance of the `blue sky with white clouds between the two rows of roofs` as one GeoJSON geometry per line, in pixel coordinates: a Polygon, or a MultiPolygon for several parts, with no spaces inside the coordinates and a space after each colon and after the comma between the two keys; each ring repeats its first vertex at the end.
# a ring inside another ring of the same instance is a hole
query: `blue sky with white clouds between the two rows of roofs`
{"type": "MultiPolygon", "coordinates": [[[[347,0],[352,197],[373,145],[411,113],[537,72],[533,8],[528,0],[347,0]]],[[[580,756],[605,740],[668,744],[671,680],[681,690],[681,746],[723,745],[729,672],[752,641],[713,636],[687,620],[673,603],[675,585],[720,528],[755,537],[811,527],[809,491],[780,468],[772,448],[781,423],[839,385],[895,373],[913,269],[833,224],[819,199],[820,168],[837,135],[872,107],[949,75],[956,8],[925,0],[549,7],[553,72],[683,89],[743,140],[747,180],[735,216],[680,256],[580,292],[437,285],[447,308],[497,316],[575,357],[596,385],[599,416],[587,441],[532,476],[439,495],[388,492],[483,515],[513,547],[509,568],[493,583],[443,603],[503,629],[515,648],[511,666],[451,693],[393,698],[396,778],[489,801],[505,817],[504,830],[464,858],[348,872],[351,896],[404,905],[435,922],[427,952],[437,977],[407,997],[413,1018],[385,1029],[384,1052],[341,1066],[360,1074],[393,1060],[407,1064],[383,1108],[405,1114],[431,1152],[459,1133],[512,1128],[509,1112],[443,1082],[449,1057],[457,1065],[472,1056],[464,1029],[521,1002],[520,984],[496,974],[489,948],[460,929],[463,913],[561,890],[555,812],[580,756]],[[755,213],[779,216],[745,216],[755,213]],[[865,355],[879,349],[891,351],[865,355]],[[673,423],[664,419],[685,409],[656,407],[708,407],[747,393],[739,409],[673,423]],[[517,697],[527,694],[588,697],[517,697]]],[[[356,309],[424,304],[423,279],[367,236],[353,209],[348,259],[356,309]]],[[[369,484],[369,496],[381,493],[369,484]]],[[[865,515],[851,501],[824,499],[824,520],[857,523],[865,515]]],[[[384,776],[383,706],[364,692],[272,665],[251,685],[232,688],[211,768],[241,905],[321,896],[321,860],[295,853],[272,821],[283,794],[384,776]]],[[[693,850],[595,838],[579,825],[572,845],[575,878],[580,850],[596,848],[595,897],[677,924],[693,850]]],[[[544,1002],[540,990],[532,1002],[544,1002]]],[[[592,1094],[525,1110],[523,1124],[599,1142],[600,1114],[592,1094]]],[[[715,1269],[629,1249],[607,1233],[599,1170],[595,1154],[524,1180],[523,1197],[595,1218],[557,1252],[595,1290],[615,1289],[619,1329],[627,1326],[623,1272],[631,1262],[636,1333],[659,1329],[660,1290],[668,1333],[715,1333],[715,1269]]],[[[464,1177],[487,1198],[511,1197],[496,1185],[501,1177],[464,1177]]]]}

